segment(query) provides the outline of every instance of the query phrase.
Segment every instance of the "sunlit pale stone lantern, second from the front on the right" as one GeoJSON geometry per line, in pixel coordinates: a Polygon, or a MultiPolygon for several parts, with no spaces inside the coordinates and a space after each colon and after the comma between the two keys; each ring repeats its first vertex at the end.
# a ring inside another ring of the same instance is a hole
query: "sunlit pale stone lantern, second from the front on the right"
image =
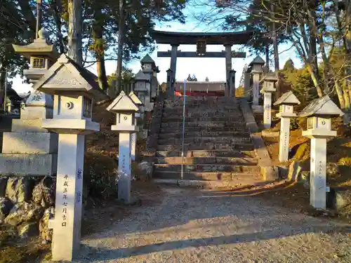
{"type": "Polygon", "coordinates": [[[298,104],[300,104],[300,101],[291,91],[284,93],[274,103],[274,105],[279,105],[279,113],[276,116],[280,119],[280,162],[288,161],[289,159],[290,119],[296,117],[296,114],[293,113],[293,106],[298,104]]]}

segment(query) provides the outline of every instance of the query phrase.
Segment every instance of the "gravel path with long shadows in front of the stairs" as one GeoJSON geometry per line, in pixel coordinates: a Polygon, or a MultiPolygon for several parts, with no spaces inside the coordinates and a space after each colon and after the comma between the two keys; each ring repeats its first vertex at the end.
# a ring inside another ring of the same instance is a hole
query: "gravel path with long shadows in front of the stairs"
{"type": "Polygon", "coordinates": [[[86,236],[78,262],[351,262],[350,229],[335,222],[256,197],[162,191],[156,205],[86,236]]]}

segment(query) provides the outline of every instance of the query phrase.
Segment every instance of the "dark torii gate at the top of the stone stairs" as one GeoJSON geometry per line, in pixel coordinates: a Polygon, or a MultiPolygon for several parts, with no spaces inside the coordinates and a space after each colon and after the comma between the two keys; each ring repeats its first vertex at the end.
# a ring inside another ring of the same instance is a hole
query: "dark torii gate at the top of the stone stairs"
{"type": "Polygon", "coordinates": [[[232,70],[232,58],[246,58],[245,52],[233,52],[233,45],[248,43],[253,32],[151,32],[152,38],[157,43],[170,44],[172,49],[157,52],[157,57],[171,58],[171,67],[167,71],[167,90],[169,95],[174,94],[174,82],[176,80],[177,58],[225,58],[226,69],[226,96],[234,96],[234,83],[230,85],[235,74],[232,70]],[[179,45],[197,45],[197,52],[183,52],[178,50],[179,45]],[[206,45],[223,45],[225,50],[222,52],[206,52],[206,45]],[[231,76],[232,75],[232,76],[231,76]]]}

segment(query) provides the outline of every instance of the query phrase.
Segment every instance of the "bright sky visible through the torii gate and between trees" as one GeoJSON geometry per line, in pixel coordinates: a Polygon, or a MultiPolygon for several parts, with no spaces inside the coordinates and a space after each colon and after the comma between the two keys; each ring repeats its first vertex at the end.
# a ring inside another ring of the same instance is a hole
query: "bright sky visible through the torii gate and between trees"
{"type": "MultiPolygon", "coordinates": [[[[213,28],[213,25],[199,25],[199,22],[193,18],[193,14],[196,12],[194,8],[187,8],[185,14],[187,15],[187,22],[185,25],[179,22],[170,22],[164,25],[157,25],[158,30],[162,31],[173,31],[173,32],[219,32],[220,29],[217,27],[213,28]]],[[[295,48],[290,48],[289,44],[283,44],[279,46],[279,64],[282,68],[286,60],[291,58],[296,67],[300,67],[301,62],[295,55],[295,48]]],[[[157,51],[170,50],[170,45],[157,45],[154,53],[150,53],[150,56],[155,61],[156,65],[160,69],[160,73],[157,75],[159,83],[166,81],[166,70],[170,67],[171,58],[157,58],[157,51]]],[[[237,71],[236,74],[236,86],[239,85],[241,78],[241,73],[245,64],[249,64],[251,60],[255,57],[254,54],[249,54],[245,48],[242,46],[232,46],[232,50],[246,51],[246,58],[233,58],[232,68],[237,71]]],[[[195,45],[180,45],[178,50],[182,51],[196,51],[195,45]]],[[[221,51],[224,50],[224,46],[219,45],[208,45],[206,50],[208,51],[221,51]]],[[[140,57],[146,53],[140,54],[140,57]]],[[[262,58],[265,59],[265,55],[261,54],[262,58]]],[[[271,63],[272,64],[272,63],[271,63]]],[[[108,60],[106,61],[106,71],[107,75],[115,72],[117,67],[117,61],[108,60]]],[[[133,69],[134,73],[137,73],[140,69],[140,62],[138,60],[130,62],[127,67],[133,69]]],[[[270,65],[272,69],[272,65],[270,65]]],[[[96,74],[96,67],[93,65],[88,68],[96,74]]],[[[178,58],[177,69],[176,69],[176,79],[178,81],[186,79],[188,74],[195,74],[198,81],[204,81],[206,76],[209,81],[225,81],[225,58],[178,58]]],[[[13,79],[13,88],[18,93],[27,93],[31,90],[31,84],[22,83],[23,79],[19,77],[13,79]]]]}

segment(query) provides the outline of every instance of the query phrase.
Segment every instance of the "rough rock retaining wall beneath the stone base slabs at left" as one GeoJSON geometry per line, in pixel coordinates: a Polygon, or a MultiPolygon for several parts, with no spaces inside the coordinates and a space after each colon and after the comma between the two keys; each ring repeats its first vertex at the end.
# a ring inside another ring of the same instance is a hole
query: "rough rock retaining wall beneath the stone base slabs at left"
{"type": "Polygon", "coordinates": [[[0,230],[51,241],[48,220],[54,213],[55,181],[51,176],[0,177],[0,230]]]}

